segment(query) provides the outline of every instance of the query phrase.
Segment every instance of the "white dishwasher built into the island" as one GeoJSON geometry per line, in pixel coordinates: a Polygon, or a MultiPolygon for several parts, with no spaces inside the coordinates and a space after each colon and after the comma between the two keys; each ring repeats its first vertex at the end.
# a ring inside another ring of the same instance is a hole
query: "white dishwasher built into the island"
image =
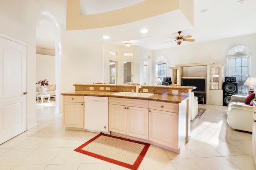
{"type": "Polygon", "coordinates": [[[108,97],[84,96],[84,128],[92,132],[109,132],[108,97]]]}

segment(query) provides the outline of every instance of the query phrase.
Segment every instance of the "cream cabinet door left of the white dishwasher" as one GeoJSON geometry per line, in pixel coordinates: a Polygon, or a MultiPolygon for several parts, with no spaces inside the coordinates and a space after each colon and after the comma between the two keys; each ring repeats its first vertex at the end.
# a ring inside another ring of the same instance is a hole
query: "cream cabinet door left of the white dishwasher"
{"type": "Polygon", "coordinates": [[[64,127],[84,128],[84,103],[63,102],[62,119],[64,127]]]}

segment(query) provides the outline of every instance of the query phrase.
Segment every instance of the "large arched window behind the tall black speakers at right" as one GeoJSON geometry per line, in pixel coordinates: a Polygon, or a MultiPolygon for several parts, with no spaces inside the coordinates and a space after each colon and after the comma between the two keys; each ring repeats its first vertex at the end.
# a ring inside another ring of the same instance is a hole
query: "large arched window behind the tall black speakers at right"
{"type": "Polygon", "coordinates": [[[244,82],[249,77],[251,55],[250,49],[242,45],[232,47],[227,53],[227,74],[236,77],[240,94],[247,94],[248,91],[244,82]]]}

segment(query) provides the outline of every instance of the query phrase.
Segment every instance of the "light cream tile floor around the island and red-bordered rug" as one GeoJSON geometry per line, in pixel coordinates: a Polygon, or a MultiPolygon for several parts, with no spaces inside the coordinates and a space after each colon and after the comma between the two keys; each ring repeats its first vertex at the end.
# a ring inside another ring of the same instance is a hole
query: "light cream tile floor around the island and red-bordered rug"
{"type": "MultiPolygon", "coordinates": [[[[191,141],[180,154],[151,145],[138,170],[256,170],[252,134],[227,124],[225,106],[206,108],[191,122],[191,141]]],[[[125,170],[73,150],[96,133],[65,130],[54,106],[37,107],[37,126],[0,145],[0,170],[125,170]]]]}

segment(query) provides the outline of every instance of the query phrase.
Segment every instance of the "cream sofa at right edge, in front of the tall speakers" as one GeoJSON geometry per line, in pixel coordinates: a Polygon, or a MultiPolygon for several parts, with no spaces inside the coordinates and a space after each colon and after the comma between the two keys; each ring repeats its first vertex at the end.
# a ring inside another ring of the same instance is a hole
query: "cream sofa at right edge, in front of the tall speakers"
{"type": "MultiPolygon", "coordinates": [[[[247,96],[233,95],[228,103],[228,125],[235,130],[252,132],[253,107],[244,103],[247,96]]],[[[253,98],[250,103],[255,100],[253,98]]]]}

